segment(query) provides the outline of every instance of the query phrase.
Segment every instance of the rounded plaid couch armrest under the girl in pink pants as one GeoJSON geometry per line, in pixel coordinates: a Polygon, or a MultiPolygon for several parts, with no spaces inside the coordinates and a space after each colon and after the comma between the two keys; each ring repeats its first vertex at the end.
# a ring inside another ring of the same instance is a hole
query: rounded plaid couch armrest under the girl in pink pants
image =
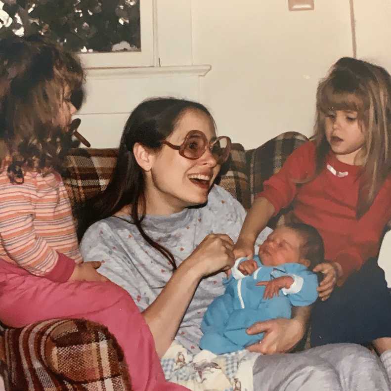
{"type": "Polygon", "coordinates": [[[123,351],[106,327],[54,319],[2,337],[6,391],[131,390],[123,351]]]}

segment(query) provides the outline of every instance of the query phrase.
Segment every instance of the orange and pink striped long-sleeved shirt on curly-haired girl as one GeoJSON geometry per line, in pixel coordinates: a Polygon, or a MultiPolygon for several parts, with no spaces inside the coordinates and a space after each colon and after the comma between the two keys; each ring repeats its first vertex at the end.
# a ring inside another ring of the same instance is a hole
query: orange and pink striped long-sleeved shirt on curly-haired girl
{"type": "Polygon", "coordinates": [[[60,174],[26,172],[12,184],[0,173],[0,257],[37,276],[67,281],[82,262],[60,174]]]}

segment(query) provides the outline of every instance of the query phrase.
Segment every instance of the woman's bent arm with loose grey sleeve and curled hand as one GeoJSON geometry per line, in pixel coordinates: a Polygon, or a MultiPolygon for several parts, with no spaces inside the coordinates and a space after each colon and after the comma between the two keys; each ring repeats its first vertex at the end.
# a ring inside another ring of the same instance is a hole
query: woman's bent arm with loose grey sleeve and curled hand
{"type": "MultiPolygon", "coordinates": [[[[134,243],[134,247],[141,246],[145,252],[133,259],[125,249],[131,246],[129,241],[133,238],[129,239],[126,234],[128,243],[125,243],[124,237],[118,234],[123,228],[113,224],[115,220],[101,220],[93,224],[83,237],[80,248],[82,255],[86,261],[104,261],[99,271],[130,293],[152,332],[158,354],[162,356],[174,340],[200,280],[233,265],[233,241],[223,234],[206,236],[191,255],[181,262],[152,301],[145,291],[158,288],[146,287],[144,279],[150,284],[155,272],[160,274],[160,266],[153,258],[147,258],[153,256],[154,252],[149,255],[145,251],[148,248],[144,249],[141,243],[134,243]],[[155,270],[156,267],[159,269],[155,270]],[[145,268],[151,268],[148,275],[143,271],[145,268]]],[[[154,283],[158,283],[156,279],[154,283]]]]}

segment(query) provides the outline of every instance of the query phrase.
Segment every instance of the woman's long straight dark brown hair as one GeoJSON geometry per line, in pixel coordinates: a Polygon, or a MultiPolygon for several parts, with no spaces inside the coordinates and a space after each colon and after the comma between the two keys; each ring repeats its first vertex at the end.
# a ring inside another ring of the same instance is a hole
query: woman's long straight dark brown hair
{"type": "Polygon", "coordinates": [[[82,236],[87,227],[102,218],[110,217],[126,205],[131,206],[130,216],[145,241],[157,249],[176,269],[174,256],[165,247],[149,237],[141,226],[145,217],[144,172],[133,154],[135,143],[159,150],[162,141],[174,130],[175,125],[187,110],[199,110],[213,118],[208,109],[200,103],[176,98],[153,98],[140,103],[130,114],[122,133],[117,164],[107,188],[82,210],[82,236]],[[141,213],[140,213],[141,211],[141,213]]]}

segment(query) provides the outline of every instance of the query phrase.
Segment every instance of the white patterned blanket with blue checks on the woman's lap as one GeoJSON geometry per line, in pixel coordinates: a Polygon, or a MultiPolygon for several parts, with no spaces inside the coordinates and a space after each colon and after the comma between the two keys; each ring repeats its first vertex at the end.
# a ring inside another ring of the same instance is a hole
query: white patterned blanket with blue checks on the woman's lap
{"type": "Polygon", "coordinates": [[[240,350],[192,355],[174,341],[162,358],[166,379],[192,391],[253,391],[253,365],[258,353],[240,350]]]}

